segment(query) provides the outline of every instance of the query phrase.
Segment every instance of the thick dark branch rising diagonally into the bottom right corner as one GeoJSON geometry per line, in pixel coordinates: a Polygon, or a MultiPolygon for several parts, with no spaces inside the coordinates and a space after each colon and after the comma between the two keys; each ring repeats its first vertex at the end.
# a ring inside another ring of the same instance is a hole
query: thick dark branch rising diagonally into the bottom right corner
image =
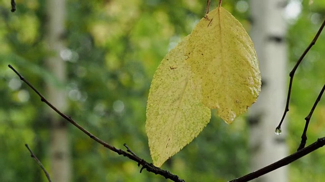
{"type": "Polygon", "coordinates": [[[318,139],[316,142],[314,142],[313,144],[307,146],[306,148],[294,153],[294,154],[291,154],[277,162],[274,162],[273,164],[271,165],[268,165],[262,169],[259,169],[257,171],[254,171],[252,173],[249,173],[247,175],[244,175],[240,178],[237,178],[237,179],[234,179],[234,180],[231,180],[229,182],[245,182],[245,181],[249,181],[249,180],[252,180],[252,179],[255,179],[259,176],[262,176],[266,173],[269,173],[275,169],[278,169],[280,167],[283,167],[285,165],[288,165],[289,163],[291,162],[294,162],[295,160],[297,159],[300,159],[302,157],[304,157],[305,155],[323,147],[325,145],[325,137],[324,138],[320,138],[318,139]]]}

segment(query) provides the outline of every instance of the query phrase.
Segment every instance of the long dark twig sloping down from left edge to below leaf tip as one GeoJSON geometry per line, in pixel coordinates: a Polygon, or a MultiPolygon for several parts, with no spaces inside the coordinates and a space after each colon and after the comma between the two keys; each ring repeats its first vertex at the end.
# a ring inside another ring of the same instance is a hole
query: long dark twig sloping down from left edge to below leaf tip
{"type": "Polygon", "coordinates": [[[32,90],[34,90],[34,92],[39,95],[39,97],[41,98],[41,101],[46,103],[50,108],[52,108],[57,114],[59,114],[61,117],[63,117],[64,119],[66,119],[67,121],[69,121],[71,124],[73,124],[74,126],[76,126],[78,129],[80,129],[82,132],[84,132],[85,134],[87,134],[92,140],[94,140],[95,142],[103,145],[104,147],[108,148],[109,150],[116,152],[119,155],[123,155],[131,160],[134,160],[136,162],[138,162],[138,165],[142,165],[141,171],[142,169],[146,169],[149,172],[153,172],[155,174],[159,174],[164,176],[165,178],[169,178],[173,181],[178,181],[178,182],[184,182],[183,179],[179,178],[177,175],[172,174],[171,172],[167,171],[167,170],[163,170],[160,169],[159,167],[154,166],[152,163],[148,163],[147,161],[145,161],[144,159],[139,158],[136,155],[130,154],[128,152],[125,152],[121,149],[117,149],[114,146],[109,145],[108,143],[104,142],[103,140],[99,139],[97,136],[91,134],[89,131],[87,131],[85,128],[83,128],[82,126],[80,126],[76,121],[74,121],[70,116],[67,116],[65,114],[63,114],[62,112],[60,112],[58,109],[56,109],[49,101],[47,101],[41,94],[40,92],[32,85],[30,84],[22,75],[20,75],[11,65],[8,65],[9,68],[11,68],[18,76],[19,78],[24,81],[32,90]]]}

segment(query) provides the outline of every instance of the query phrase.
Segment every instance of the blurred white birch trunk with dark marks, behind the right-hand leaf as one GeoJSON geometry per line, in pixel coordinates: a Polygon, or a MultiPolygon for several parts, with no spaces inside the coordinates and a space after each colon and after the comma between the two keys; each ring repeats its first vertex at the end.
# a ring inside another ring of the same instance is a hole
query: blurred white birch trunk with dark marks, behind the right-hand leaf
{"type": "MultiPolygon", "coordinates": [[[[259,68],[262,73],[262,91],[251,109],[250,154],[251,170],[265,167],[285,156],[285,125],[282,134],[275,127],[284,112],[286,100],[286,22],[283,19],[284,0],[251,0],[252,30],[259,68]]],[[[285,182],[287,167],[282,167],[254,181],[285,182]]]]}

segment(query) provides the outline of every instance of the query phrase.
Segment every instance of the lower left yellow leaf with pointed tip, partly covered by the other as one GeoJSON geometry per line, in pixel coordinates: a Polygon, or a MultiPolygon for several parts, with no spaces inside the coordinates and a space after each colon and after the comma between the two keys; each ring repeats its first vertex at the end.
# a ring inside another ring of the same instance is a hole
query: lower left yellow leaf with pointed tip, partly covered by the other
{"type": "Polygon", "coordinates": [[[156,166],[190,143],[210,121],[210,109],[200,102],[200,85],[193,84],[185,63],[186,44],[185,38],[166,55],[150,86],[146,132],[156,166]]]}

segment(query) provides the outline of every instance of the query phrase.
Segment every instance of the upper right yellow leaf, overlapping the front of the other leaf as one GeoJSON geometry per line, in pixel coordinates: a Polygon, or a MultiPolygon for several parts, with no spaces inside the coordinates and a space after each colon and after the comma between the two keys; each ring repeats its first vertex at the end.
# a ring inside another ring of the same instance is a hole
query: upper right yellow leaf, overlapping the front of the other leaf
{"type": "Polygon", "coordinates": [[[202,103],[226,122],[247,111],[261,90],[253,42],[244,27],[222,7],[202,18],[188,35],[187,64],[202,103]]]}

